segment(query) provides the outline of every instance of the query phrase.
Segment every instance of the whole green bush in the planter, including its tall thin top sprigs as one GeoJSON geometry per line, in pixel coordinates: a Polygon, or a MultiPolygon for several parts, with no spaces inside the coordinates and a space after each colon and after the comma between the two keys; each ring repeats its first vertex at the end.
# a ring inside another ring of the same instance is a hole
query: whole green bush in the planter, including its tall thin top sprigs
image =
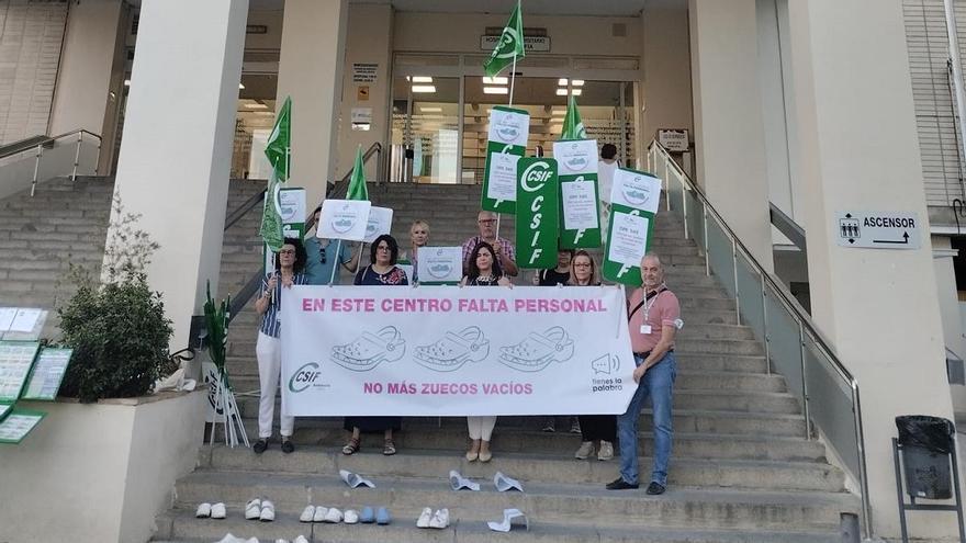
{"type": "Polygon", "coordinates": [[[74,349],[63,396],[81,401],[144,396],[170,373],[171,321],[144,272],[158,245],[135,229],[138,218],[125,214],[115,197],[101,281],[91,270],[70,269],[77,291],[57,309],[61,343],[74,349]]]}

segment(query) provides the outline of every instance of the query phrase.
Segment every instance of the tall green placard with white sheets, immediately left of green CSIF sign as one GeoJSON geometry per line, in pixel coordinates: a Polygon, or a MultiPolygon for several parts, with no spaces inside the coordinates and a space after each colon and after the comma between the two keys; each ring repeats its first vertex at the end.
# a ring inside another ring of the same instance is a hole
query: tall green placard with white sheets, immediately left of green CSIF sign
{"type": "Polygon", "coordinates": [[[527,151],[530,114],[496,105],[490,110],[486,165],[480,206],[496,213],[516,213],[517,160],[527,151]]]}

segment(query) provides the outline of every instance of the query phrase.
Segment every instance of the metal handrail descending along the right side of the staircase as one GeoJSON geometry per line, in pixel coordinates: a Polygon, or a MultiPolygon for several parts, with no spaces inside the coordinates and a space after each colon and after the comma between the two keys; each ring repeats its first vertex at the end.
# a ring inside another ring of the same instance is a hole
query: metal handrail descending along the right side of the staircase
{"type": "MultiPolygon", "coordinates": [[[[811,337],[812,341],[815,342],[815,346],[819,350],[822,351],[822,353],[825,355],[825,358],[829,360],[829,362],[831,362],[832,369],[835,370],[835,372],[839,374],[839,376],[842,378],[842,381],[852,391],[852,411],[853,411],[853,418],[854,418],[854,422],[855,422],[855,441],[856,441],[856,448],[857,448],[857,454],[858,454],[858,459],[857,459],[858,460],[858,474],[857,474],[857,476],[858,476],[858,479],[860,479],[858,483],[861,486],[860,498],[862,500],[862,520],[863,520],[863,528],[864,528],[866,536],[870,536],[870,534],[872,534],[872,509],[870,509],[872,505],[868,500],[868,473],[867,473],[866,457],[865,457],[865,432],[864,432],[863,422],[862,422],[862,404],[860,400],[858,382],[852,375],[852,372],[850,372],[844,366],[844,364],[842,364],[842,362],[839,360],[839,358],[835,355],[835,352],[831,347],[831,342],[828,341],[823,337],[823,335],[819,331],[818,327],[811,320],[811,317],[808,315],[808,313],[798,304],[798,301],[796,301],[795,297],[791,296],[791,294],[785,290],[784,285],[782,285],[782,283],[779,281],[776,281],[767,271],[765,271],[764,267],[762,267],[761,263],[759,263],[757,259],[754,258],[752,252],[744,246],[744,244],[741,242],[741,239],[739,239],[739,237],[734,234],[734,231],[728,226],[728,224],[724,222],[724,218],[721,216],[720,213],[718,213],[718,211],[715,208],[715,206],[710,203],[710,201],[708,200],[708,197],[704,193],[704,191],[701,191],[698,188],[697,183],[694,182],[694,180],[690,178],[690,176],[688,176],[687,172],[685,172],[684,169],[681,166],[678,166],[677,162],[671,157],[671,155],[667,152],[667,149],[665,149],[664,146],[662,146],[658,140],[652,140],[651,144],[648,146],[649,151],[651,151],[652,149],[656,149],[658,154],[660,154],[662,156],[661,158],[664,159],[665,168],[670,166],[671,168],[673,168],[675,170],[675,172],[677,173],[678,181],[681,181],[682,188],[686,191],[692,191],[697,196],[698,201],[701,202],[701,204],[704,206],[705,217],[706,217],[705,235],[704,235],[704,239],[705,239],[705,244],[706,244],[705,245],[706,270],[709,270],[709,268],[708,268],[708,265],[709,265],[708,260],[709,259],[708,259],[708,251],[707,251],[707,247],[708,247],[708,245],[707,245],[708,244],[707,242],[707,239],[708,239],[708,237],[707,237],[707,216],[711,216],[711,218],[714,218],[715,222],[718,224],[718,226],[721,228],[721,231],[723,231],[726,234],[726,236],[729,238],[729,241],[731,241],[731,244],[732,244],[733,258],[735,259],[735,267],[737,267],[737,254],[738,254],[738,251],[740,250],[742,253],[744,253],[746,261],[749,263],[751,263],[752,268],[754,268],[754,270],[762,278],[762,295],[764,296],[765,292],[766,292],[765,284],[771,286],[772,290],[778,294],[778,298],[782,301],[785,308],[796,319],[796,321],[799,326],[799,329],[802,332],[802,336],[804,336],[804,332],[806,332],[806,331],[808,332],[808,335],[811,337]]],[[[667,182],[670,183],[671,182],[670,176],[667,176],[667,178],[669,178],[667,182]]],[[[667,205],[667,208],[670,210],[670,206],[671,206],[670,195],[667,197],[666,205],[667,205]]],[[[683,207],[684,207],[684,217],[685,217],[685,237],[687,237],[688,233],[687,233],[687,207],[686,207],[686,204],[684,204],[683,207]]],[[[710,273],[710,271],[708,271],[708,273],[710,273]]],[[[738,283],[738,274],[737,273],[734,274],[734,281],[735,281],[734,296],[735,296],[735,299],[738,299],[739,291],[737,289],[737,286],[738,286],[737,285],[737,283],[738,283]]],[[[738,304],[735,303],[735,305],[738,305],[738,304]]],[[[739,319],[740,319],[740,315],[739,315],[739,319]]],[[[804,343],[801,347],[804,348],[804,343]]],[[[802,364],[804,363],[805,363],[805,361],[802,358],[802,364]]],[[[805,381],[805,378],[802,376],[802,382],[804,381],[805,381]]],[[[806,404],[806,412],[805,412],[806,422],[810,423],[809,416],[808,416],[808,407],[807,407],[808,406],[807,396],[804,397],[804,401],[806,404]]]]}

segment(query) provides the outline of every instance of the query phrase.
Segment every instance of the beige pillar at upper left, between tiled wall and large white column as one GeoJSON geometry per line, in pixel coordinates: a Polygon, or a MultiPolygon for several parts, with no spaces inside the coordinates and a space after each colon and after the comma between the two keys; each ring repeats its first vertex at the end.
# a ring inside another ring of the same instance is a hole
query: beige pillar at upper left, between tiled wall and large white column
{"type": "Polygon", "coordinates": [[[120,0],[70,3],[64,54],[50,112],[50,134],[83,128],[101,135],[109,102],[120,0]]]}

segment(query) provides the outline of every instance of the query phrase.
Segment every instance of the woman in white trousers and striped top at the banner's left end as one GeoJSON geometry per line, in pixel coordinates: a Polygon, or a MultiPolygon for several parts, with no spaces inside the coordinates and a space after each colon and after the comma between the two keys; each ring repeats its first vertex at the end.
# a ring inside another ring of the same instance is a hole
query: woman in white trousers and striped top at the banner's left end
{"type": "MultiPolygon", "coordinates": [[[[276,391],[282,372],[281,333],[282,292],[292,285],[306,284],[305,248],[296,238],[285,238],[276,259],[276,269],[261,281],[261,295],[255,301],[255,310],[261,316],[258,329],[258,342],[255,355],[258,359],[258,441],[251,448],[256,454],[268,449],[271,438],[272,420],[276,408],[276,391]]],[[[292,432],[295,429],[295,417],[280,417],[282,452],[295,450],[292,444],[292,432]]]]}

